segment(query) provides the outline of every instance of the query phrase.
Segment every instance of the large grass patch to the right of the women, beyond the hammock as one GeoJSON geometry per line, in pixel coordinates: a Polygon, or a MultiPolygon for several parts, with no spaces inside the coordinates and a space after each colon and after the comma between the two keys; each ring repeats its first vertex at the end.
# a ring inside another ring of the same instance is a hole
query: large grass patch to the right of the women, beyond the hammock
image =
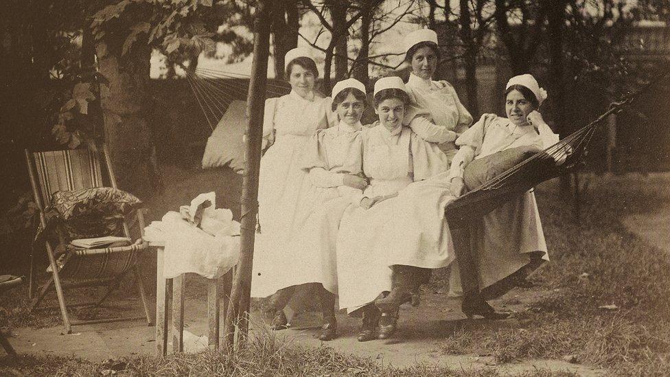
{"type": "Polygon", "coordinates": [[[670,208],[670,176],[589,183],[579,225],[573,208],[555,199],[556,185],[538,190],[552,261],[531,289],[555,294],[517,313],[517,326],[455,330],[445,352],[490,353],[500,362],[575,355],[621,376],[670,375],[669,255],[622,225],[625,216],[670,208]]]}

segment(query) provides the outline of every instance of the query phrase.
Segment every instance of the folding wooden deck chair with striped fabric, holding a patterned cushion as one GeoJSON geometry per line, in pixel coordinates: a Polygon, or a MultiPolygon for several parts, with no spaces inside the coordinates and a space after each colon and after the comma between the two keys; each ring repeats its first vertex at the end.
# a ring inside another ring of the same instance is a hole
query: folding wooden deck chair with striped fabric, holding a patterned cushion
{"type": "MultiPolygon", "coordinates": [[[[32,185],[35,204],[40,211],[40,222],[46,227],[44,215],[45,205],[51,201],[51,195],[57,191],[80,190],[91,187],[117,188],[111,162],[108,159],[106,146],[103,144],[97,151],[89,148],[75,150],[50,150],[32,152],[25,150],[28,173],[32,185]],[[101,157],[104,164],[101,163],[101,157]],[[104,185],[103,182],[108,183],[104,185]]],[[[135,225],[139,227],[139,234],[143,236],[144,218],[141,209],[135,211],[135,225]]],[[[124,221],[124,234],[130,238],[130,227],[124,221]]],[[[132,239],[132,238],[131,238],[132,239]]],[[[58,267],[54,248],[47,240],[45,242],[51,277],[41,287],[34,297],[35,288],[35,258],[31,254],[30,261],[30,297],[33,299],[31,310],[34,310],[45,297],[51,286],[56,288],[58,306],[62,314],[65,332],[71,332],[72,325],[88,323],[103,323],[113,321],[130,321],[143,319],[146,316],[148,325],[152,325],[147,297],[143,281],[137,267],[137,254],[148,250],[148,245],[139,238],[135,243],[123,247],[108,247],[105,249],[76,249],[69,245],[65,253],[65,260],[58,267]],[[135,275],[135,282],[139,289],[145,316],[142,317],[115,317],[92,320],[71,320],[67,307],[100,306],[110,293],[117,288],[120,280],[129,272],[135,275]],[[83,288],[90,286],[106,286],[106,293],[97,301],[67,304],[65,303],[64,289],[83,288]]]]}

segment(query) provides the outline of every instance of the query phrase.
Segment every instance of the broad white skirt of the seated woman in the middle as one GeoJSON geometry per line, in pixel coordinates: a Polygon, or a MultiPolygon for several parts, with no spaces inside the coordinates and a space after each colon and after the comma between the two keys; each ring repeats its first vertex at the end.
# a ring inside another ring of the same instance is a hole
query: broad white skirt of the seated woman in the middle
{"type": "Polygon", "coordinates": [[[393,264],[437,269],[452,262],[444,218],[452,197],[443,186],[437,179],[412,183],[370,209],[345,210],[336,247],[340,308],[353,312],[391,290],[393,264]]]}

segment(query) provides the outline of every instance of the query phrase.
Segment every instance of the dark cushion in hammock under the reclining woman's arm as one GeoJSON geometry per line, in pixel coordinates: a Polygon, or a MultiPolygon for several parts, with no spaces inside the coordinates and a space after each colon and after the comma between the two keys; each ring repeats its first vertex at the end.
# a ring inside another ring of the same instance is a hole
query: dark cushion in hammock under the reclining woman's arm
{"type": "Polygon", "coordinates": [[[535,146],[520,146],[475,159],[463,170],[465,188],[468,191],[474,190],[537,152],[540,152],[540,149],[535,146]]]}

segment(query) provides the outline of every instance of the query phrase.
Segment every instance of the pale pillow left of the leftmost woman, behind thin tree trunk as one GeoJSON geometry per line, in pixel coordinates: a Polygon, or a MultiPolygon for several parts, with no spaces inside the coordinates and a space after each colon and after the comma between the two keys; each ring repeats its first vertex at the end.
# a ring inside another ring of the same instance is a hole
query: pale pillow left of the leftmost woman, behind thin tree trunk
{"type": "Polygon", "coordinates": [[[244,170],[244,126],[246,103],[235,100],[207,139],[203,155],[203,169],[229,165],[233,171],[244,170]]]}

